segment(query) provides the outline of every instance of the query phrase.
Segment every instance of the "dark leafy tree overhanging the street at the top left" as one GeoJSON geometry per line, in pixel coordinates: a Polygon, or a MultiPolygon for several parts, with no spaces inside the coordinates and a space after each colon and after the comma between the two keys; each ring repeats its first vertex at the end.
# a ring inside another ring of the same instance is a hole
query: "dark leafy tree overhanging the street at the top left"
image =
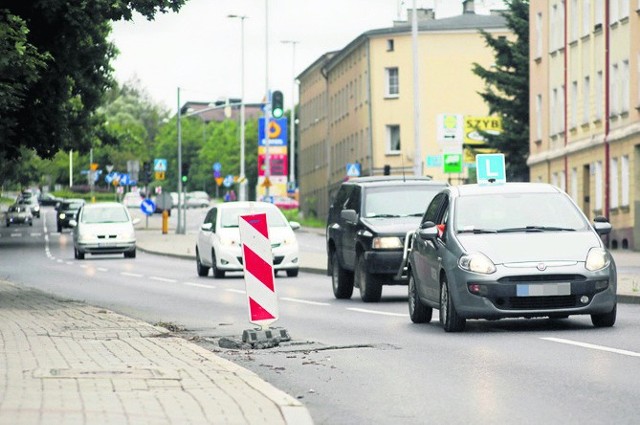
{"type": "Polygon", "coordinates": [[[111,21],[152,20],[186,0],[5,0],[0,10],[0,159],[114,142],[97,113],[113,86],[111,21]]]}

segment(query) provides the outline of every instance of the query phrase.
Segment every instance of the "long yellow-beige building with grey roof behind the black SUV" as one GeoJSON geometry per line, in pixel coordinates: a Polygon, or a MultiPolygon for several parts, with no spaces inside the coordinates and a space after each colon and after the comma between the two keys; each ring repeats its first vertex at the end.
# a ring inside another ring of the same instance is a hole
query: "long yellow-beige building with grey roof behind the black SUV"
{"type": "Polygon", "coordinates": [[[478,95],[484,81],[472,68],[473,63],[490,67],[494,57],[478,29],[510,35],[499,13],[479,15],[473,6],[468,0],[462,15],[437,20],[431,9],[417,11],[417,145],[411,13],[408,21],[367,31],[342,50],[327,53],[297,77],[298,181],[305,214],[326,218],[349,164],[358,164],[361,176],[381,175],[389,166],[391,174],[413,175],[416,169],[453,183],[463,180],[465,173],[444,175],[442,165],[427,161],[443,152],[436,117],[488,115],[478,95]]]}

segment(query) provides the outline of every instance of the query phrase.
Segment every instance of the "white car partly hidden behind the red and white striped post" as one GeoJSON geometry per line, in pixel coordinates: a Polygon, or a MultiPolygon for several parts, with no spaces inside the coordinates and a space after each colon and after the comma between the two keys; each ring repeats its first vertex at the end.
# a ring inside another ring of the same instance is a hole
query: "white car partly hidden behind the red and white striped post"
{"type": "Polygon", "coordinates": [[[239,216],[258,213],[267,214],[274,274],[284,270],[289,277],[298,275],[298,240],[293,231],[299,229],[300,224],[288,221],[278,207],[267,202],[225,202],[207,212],[198,232],[196,266],[199,276],[207,276],[209,269],[213,269],[216,278],[224,277],[225,272],[243,271],[239,216]]]}

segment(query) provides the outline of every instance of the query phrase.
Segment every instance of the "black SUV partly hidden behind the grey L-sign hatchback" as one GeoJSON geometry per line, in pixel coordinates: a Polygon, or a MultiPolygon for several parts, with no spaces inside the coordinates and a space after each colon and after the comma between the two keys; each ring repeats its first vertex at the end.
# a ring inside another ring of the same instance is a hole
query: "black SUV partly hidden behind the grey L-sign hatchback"
{"type": "Polygon", "coordinates": [[[327,220],[328,273],[336,298],[351,298],[354,286],[365,302],[378,302],[383,285],[398,278],[405,235],[420,222],[446,182],[428,177],[362,177],[343,182],[327,220]]]}

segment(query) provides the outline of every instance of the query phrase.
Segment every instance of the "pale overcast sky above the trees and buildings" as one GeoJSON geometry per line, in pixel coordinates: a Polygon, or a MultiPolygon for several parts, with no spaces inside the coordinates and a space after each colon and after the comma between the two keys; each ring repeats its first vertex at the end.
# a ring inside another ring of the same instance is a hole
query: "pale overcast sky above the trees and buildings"
{"type": "MultiPolygon", "coordinates": [[[[477,13],[502,7],[500,0],[475,3],[477,13]]],[[[138,81],[169,110],[177,109],[178,87],[182,105],[240,98],[244,33],[246,102],[264,98],[268,79],[289,109],[295,76],[362,33],[406,20],[412,6],[413,0],[188,0],[179,13],[153,21],[134,15],[115,22],[110,39],[120,53],[112,65],[120,83],[138,81]],[[228,15],[246,16],[244,31],[241,19],[228,15]]],[[[416,7],[435,8],[437,19],[462,13],[461,0],[416,0],[416,7]]]]}

